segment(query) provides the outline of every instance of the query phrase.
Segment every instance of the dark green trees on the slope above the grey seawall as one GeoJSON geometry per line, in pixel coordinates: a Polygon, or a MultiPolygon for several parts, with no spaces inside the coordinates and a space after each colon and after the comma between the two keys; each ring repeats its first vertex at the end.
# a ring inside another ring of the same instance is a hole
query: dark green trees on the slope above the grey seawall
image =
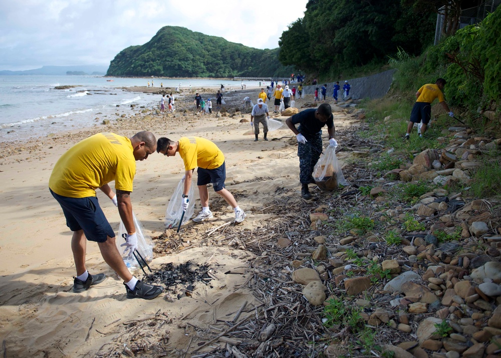
{"type": "Polygon", "coordinates": [[[336,77],[386,62],[397,47],[419,55],[433,40],[436,15],[418,14],[401,0],[310,0],[306,8],[282,34],[279,59],[307,73],[336,77]]]}

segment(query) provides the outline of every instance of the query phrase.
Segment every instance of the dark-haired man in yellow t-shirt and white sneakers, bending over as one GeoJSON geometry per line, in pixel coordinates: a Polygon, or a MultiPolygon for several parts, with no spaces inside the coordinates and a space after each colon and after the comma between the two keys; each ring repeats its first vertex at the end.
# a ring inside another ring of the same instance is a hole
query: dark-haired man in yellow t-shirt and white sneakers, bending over
{"type": "Polygon", "coordinates": [[[212,183],[214,192],[219,194],[235,212],[235,224],[241,223],[245,219],[245,213],[240,209],[233,195],[226,190],[224,181],[226,180],[226,166],[224,164],[224,155],[222,151],[208,139],[200,137],[181,137],[177,142],[169,138],[159,138],[157,141],[157,152],[167,156],[174,156],[179,152],[179,156],[184,161],[183,176],[184,190],[182,209],[188,208],[189,188],[191,187],[191,175],[193,170],[198,167],[198,194],[202,211],[193,219],[194,222],[200,222],[212,218],[209,210],[209,192],[207,184],[212,183]]]}

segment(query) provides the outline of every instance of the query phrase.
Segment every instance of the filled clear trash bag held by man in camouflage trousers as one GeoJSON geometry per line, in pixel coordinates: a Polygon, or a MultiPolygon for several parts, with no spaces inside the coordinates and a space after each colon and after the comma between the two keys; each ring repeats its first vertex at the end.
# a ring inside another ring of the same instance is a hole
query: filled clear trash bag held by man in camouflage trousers
{"type": "Polygon", "coordinates": [[[336,147],[329,144],[313,169],[315,183],[322,190],[336,190],[340,185],[348,185],[336,157],[336,147]]]}

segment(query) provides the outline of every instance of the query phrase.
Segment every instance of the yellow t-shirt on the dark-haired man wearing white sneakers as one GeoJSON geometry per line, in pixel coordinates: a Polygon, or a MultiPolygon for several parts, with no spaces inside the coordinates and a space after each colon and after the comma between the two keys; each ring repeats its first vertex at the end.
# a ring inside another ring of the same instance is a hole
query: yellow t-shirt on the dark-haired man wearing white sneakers
{"type": "Polygon", "coordinates": [[[181,137],[179,155],[183,158],[185,170],[191,170],[197,166],[215,169],[224,163],[224,155],[217,145],[200,137],[181,137]]]}

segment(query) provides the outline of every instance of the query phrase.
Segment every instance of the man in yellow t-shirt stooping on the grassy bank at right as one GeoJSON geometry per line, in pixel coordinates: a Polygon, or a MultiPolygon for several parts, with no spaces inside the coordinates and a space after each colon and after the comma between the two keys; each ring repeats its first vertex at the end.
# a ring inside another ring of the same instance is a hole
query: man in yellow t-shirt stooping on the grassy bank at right
{"type": "Polygon", "coordinates": [[[438,98],[438,102],[442,105],[442,107],[449,112],[449,116],[454,117],[454,113],[449,109],[447,103],[445,103],[445,99],[443,98],[442,90],[445,86],[445,80],[443,78],[439,78],[436,80],[435,84],[428,83],[422,86],[416,92],[416,103],[414,103],[414,107],[412,107],[412,112],[410,113],[409,124],[407,125],[407,133],[405,134],[405,139],[409,139],[410,131],[414,126],[414,123],[420,123],[423,121],[423,125],[421,126],[421,132],[419,136],[422,137],[424,132],[426,132],[426,128],[431,119],[431,103],[438,98]]]}

